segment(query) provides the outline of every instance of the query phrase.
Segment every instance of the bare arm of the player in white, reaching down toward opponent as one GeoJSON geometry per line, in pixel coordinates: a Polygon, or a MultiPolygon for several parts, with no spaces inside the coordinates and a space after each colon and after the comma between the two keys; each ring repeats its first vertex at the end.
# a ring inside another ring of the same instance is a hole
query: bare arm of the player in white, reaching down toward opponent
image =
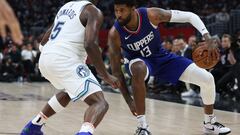
{"type": "Polygon", "coordinates": [[[94,5],[87,5],[80,15],[80,21],[85,25],[84,47],[92,64],[105,82],[113,88],[119,87],[118,79],[107,72],[97,45],[99,30],[103,22],[101,11],[94,5]]]}

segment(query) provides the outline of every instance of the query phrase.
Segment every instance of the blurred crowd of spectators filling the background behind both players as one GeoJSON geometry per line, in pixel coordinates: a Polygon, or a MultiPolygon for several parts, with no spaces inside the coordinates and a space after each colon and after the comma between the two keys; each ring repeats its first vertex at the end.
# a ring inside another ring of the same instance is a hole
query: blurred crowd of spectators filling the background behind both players
{"type": "MultiPolygon", "coordinates": [[[[20,20],[24,34],[21,46],[14,44],[8,36],[0,39],[0,81],[45,81],[38,70],[40,52],[38,43],[42,34],[53,23],[58,9],[69,0],[9,0],[20,20]]],[[[113,0],[100,1],[97,5],[103,12],[103,29],[109,29],[114,23],[113,0]]],[[[157,6],[164,9],[192,11],[200,17],[216,16],[217,21],[228,21],[231,9],[240,9],[239,0],[138,0],[138,6],[157,6]]],[[[167,37],[163,47],[169,52],[191,59],[192,50],[198,38],[195,35],[185,39],[184,36],[167,37]]],[[[213,74],[217,91],[222,95],[236,96],[240,88],[240,31],[235,34],[219,36],[221,59],[210,70],[213,74]]],[[[105,49],[104,49],[105,50],[105,49]]],[[[153,77],[149,80],[150,91],[161,92],[162,89],[176,89],[182,96],[198,96],[199,88],[192,84],[172,86],[153,77]],[[186,90],[184,92],[184,90],[186,90]]],[[[240,98],[240,94],[239,94],[240,98]]]]}

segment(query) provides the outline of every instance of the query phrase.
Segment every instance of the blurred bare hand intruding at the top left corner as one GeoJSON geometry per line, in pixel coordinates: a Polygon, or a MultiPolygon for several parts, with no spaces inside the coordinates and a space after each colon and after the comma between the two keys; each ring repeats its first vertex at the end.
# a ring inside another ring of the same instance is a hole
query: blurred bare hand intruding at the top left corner
{"type": "Polygon", "coordinates": [[[0,0],[0,36],[5,38],[7,26],[11,31],[12,39],[17,44],[22,44],[23,35],[20,29],[19,22],[7,1],[0,0]]]}

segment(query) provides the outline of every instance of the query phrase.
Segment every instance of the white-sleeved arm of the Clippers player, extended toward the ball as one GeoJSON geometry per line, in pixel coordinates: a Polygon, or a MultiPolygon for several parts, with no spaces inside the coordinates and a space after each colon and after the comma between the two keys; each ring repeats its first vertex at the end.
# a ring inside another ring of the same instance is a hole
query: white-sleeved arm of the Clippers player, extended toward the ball
{"type": "Polygon", "coordinates": [[[210,56],[216,56],[214,59],[219,59],[218,49],[215,39],[213,39],[206,26],[199,18],[198,15],[180,10],[164,10],[161,8],[148,8],[149,20],[156,26],[161,22],[174,22],[174,23],[191,23],[205,38],[208,45],[208,61],[211,61],[210,56]]]}

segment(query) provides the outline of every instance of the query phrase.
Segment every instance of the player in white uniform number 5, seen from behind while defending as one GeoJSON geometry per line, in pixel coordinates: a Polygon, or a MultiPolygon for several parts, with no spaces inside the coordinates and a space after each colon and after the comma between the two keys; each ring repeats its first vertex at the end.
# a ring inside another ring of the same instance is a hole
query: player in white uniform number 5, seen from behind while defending
{"type": "Polygon", "coordinates": [[[54,87],[64,91],[48,101],[21,135],[43,135],[41,127],[46,120],[63,110],[71,100],[78,99],[89,108],[76,135],[93,134],[108,110],[108,103],[96,78],[84,64],[87,54],[102,79],[113,88],[119,87],[118,80],[105,69],[96,43],[102,22],[101,11],[89,1],[69,2],[58,11],[54,25],[41,41],[39,68],[54,87]]]}

